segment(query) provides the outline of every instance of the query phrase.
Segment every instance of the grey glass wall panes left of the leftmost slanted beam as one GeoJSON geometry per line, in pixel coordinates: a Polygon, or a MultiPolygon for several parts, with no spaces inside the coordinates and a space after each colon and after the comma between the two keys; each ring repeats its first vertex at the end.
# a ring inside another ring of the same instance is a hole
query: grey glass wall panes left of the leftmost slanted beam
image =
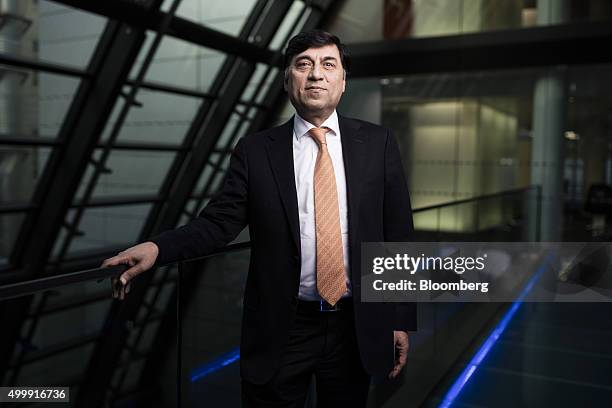
{"type": "MultiPolygon", "coordinates": [[[[87,67],[107,21],[46,0],[3,1],[0,14],[0,54],[75,72],[87,67]]],[[[0,65],[0,267],[8,265],[80,83],[78,74],[0,65]]]]}

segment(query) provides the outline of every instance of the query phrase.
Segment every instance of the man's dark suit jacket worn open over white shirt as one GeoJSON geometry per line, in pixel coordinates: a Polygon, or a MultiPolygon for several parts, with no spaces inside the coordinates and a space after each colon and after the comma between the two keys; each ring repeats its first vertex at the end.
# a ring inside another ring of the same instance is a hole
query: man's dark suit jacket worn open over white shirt
{"type": "MultiPolygon", "coordinates": [[[[360,302],[360,244],[409,241],[410,198],[390,131],[341,116],[339,125],[359,350],[366,371],[387,374],[394,361],[393,330],[416,329],[416,305],[360,302]]],[[[292,137],[293,119],[241,139],[222,188],[200,216],[152,239],[160,264],[205,255],[249,226],[241,374],[253,383],[268,381],[278,368],[296,310],[301,262],[292,137]]]]}

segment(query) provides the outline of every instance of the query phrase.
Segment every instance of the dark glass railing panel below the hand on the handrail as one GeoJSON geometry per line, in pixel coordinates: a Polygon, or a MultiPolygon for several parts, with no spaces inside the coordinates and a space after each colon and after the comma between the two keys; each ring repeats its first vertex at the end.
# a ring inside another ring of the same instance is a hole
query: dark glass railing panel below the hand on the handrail
{"type": "Polygon", "coordinates": [[[176,406],[176,271],[147,271],[123,301],[112,298],[106,269],[78,272],[102,278],[77,283],[53,277],[44,282],[52,289],[32,295],[1,287],[1,386],[67,387],[69,407],[176,406]]]}

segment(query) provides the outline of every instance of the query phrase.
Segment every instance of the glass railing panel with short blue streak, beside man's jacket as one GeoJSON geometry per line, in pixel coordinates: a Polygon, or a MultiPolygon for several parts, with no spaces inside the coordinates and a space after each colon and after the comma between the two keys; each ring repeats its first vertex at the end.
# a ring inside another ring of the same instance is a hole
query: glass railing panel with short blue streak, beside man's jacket
{"type": "Polygon", "coordinates": [[[181,277],[181,405],[240,406],[240,327],[250,250],[187,262],[181,277]]]}

